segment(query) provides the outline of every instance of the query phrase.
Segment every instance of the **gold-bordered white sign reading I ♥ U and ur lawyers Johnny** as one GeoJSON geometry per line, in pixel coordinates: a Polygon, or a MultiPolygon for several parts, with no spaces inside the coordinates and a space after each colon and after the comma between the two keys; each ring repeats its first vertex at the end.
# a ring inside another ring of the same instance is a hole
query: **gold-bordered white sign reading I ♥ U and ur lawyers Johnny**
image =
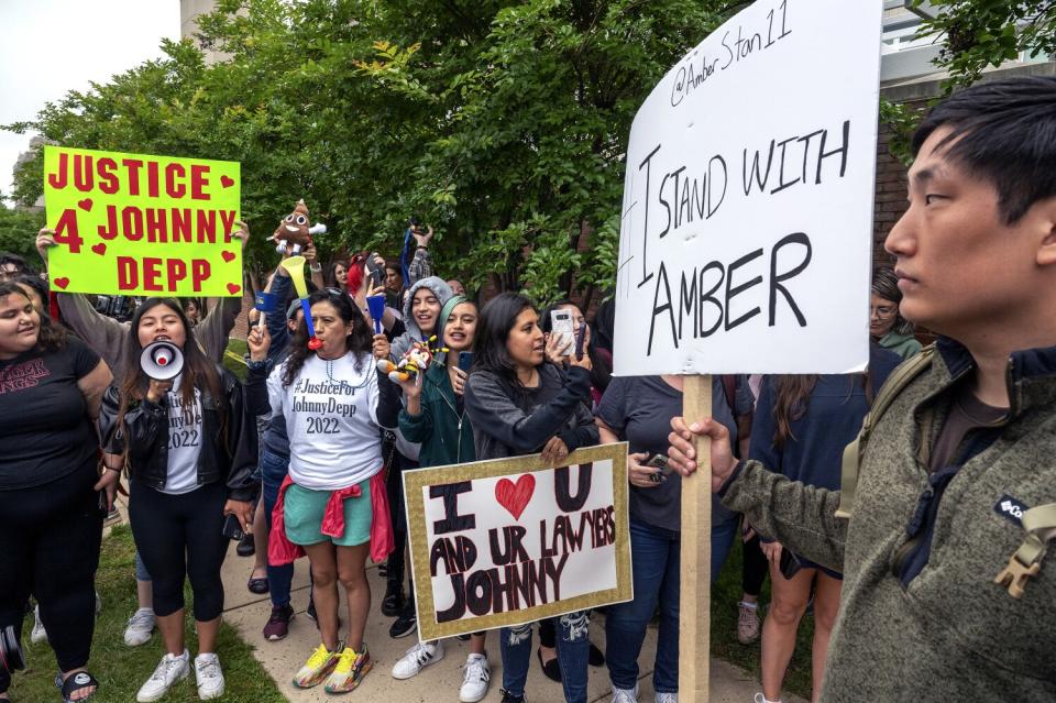
{"type": "Polygon", "coordinates": [[[634,597],[627,444],[404,472],[422,641],[634,597]]]}

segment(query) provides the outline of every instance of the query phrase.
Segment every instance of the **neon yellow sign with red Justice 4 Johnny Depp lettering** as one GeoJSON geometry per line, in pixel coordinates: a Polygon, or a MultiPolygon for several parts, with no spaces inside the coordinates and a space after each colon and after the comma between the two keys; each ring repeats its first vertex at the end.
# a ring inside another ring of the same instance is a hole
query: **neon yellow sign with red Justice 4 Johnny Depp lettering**
{"type": "Polygon", "coordinates": [[[44,147],[53,290],[242,293],[240,164],[44,147]]]}

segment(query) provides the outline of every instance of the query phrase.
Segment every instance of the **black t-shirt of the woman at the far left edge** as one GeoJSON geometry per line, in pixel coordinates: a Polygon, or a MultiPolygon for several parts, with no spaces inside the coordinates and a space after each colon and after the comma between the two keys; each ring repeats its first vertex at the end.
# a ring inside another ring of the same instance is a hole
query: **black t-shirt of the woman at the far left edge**
{"type": "Polygon", "coordinates": [[[57,352],[0,361],[0,491],[62,479],[95,461],[99,440],[77,381],[99,355],[69,338],[57,352]]]}

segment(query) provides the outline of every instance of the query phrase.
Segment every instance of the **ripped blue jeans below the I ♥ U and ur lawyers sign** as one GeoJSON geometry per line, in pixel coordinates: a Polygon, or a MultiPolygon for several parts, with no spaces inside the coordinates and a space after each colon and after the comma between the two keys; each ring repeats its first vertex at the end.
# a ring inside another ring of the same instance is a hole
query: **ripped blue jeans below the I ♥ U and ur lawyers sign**
{"type": "MultiPolygon", "coordinates": [[[[586,703],[586,661],[591,656],[590,616],[586,611],[558,618],[558,664],[566,703],[586,703]]],[[[503,653],[503,689],[513,695],[525,694],[531,664],[531,623],[499,630],[503,653]]]]}

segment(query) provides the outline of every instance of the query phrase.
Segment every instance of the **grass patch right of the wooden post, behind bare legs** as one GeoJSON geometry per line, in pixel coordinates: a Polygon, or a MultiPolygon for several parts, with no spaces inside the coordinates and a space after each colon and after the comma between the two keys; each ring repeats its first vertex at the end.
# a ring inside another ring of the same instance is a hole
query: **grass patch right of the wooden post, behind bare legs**
{"type": "MultiPolygon", "coordinates": [[[[712,587],[712,655],[737,664],[750,672],[758,681],[761,675],[759,640],[751,645],[741,645],[737,640],[737,602],[740,600],[740,573],[744,561],[743,542],[737,539],[729,552],[729,559],[718,574],[718,581],[712,587]]],[[[763,587],[760,602],[770,602],[770,579],[763,587]]],[[[760,608],[766,615],[765,606],[760,608]]],[[[761,622],[760,617],[760,622],[761,622]]],[[[811,699],[811,640],[814,637],[814,618],[810,615],[800,623],[795,653],[784,678],[784,692],[811,699]]]]}

